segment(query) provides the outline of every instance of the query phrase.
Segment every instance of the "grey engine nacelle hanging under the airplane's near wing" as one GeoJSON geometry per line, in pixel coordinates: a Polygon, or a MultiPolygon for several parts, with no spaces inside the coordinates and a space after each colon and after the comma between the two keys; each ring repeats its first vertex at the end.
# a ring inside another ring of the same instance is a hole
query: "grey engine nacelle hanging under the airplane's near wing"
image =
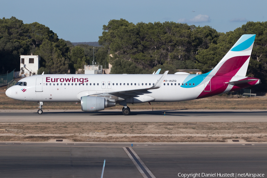
{"type": "Polygon", "coordinates": [[[81,107],[82,111],[95,112],[104,110],[107,107],[113,107],[116,103],[107,100],[104,97],[98,96],[82,96],[81,97],[81,107]]]}

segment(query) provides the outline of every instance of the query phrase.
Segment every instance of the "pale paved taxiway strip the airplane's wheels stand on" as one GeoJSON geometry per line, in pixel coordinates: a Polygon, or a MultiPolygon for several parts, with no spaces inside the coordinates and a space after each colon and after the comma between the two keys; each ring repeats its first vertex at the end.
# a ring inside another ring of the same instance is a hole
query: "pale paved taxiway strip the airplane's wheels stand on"
{"type": "Polygon", "coordinates": [[[81,110],[0,110],[1,122],[267,122],[267,110],[120,110],[86,113],[81,110]],[[165,114],[164,114],[165,113],[165,114]],[[164,116],[165,115],[165,116],[164,116]]]}

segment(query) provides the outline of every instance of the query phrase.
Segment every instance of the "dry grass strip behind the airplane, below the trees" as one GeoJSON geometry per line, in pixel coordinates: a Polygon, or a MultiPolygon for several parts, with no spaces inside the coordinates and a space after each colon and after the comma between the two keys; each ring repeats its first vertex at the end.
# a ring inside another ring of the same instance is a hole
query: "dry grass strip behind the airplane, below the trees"
{"type": "MultiPolygon", "coordinates": [[[[18,101],[0,93],[0,109],[36,109],[36,102],[18,101]]],[[[192,101],[172,103],[140,103],[129,104],[131,109],[267,109],[267,98],[229,98],[227,96],[212,96],[192,101]]],[[[121,109],[122,106],[106,109],[121,109]]],[[[44,109],[81,109],[81,104],[75,103],[45,103],[44,109]]]]}

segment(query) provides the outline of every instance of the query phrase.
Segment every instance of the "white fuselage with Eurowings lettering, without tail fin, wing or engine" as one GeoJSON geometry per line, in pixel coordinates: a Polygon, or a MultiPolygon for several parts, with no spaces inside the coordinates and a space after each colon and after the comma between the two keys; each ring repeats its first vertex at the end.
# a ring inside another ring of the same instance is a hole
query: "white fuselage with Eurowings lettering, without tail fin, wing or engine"
{"type": "MultiPolygon", "coordinates": [[[[34,102],[80,102],[82,96],[97,95],[112,91],[152,87],[161,75],[153,74],[46,74],[21,79],[26,86],[15,85],[10,89],[13,99],[34,102]]],[[[225,82],[240,79],[255,79],[239,76],[210,76],[207,74],[168,74],[158,89],[148,90],[144,95],[155,98],[150,102],[177,102],[214,96],[246,88],[259,80],[247,84],[229,85],[225,82]],[[187,78],[196,80],[188,80],[187,78]],[[212,80],[215,79],[215,80],[212,80]]],[[[114,97],[114,96],[112,96],[114,97]]],[[[111,99],[112,101],[120,99],[111,99]]],[[[117,102],[115,101],[115,102],[117,102]]],[[[131,102],[128,102],[131,103],[131,102]]]]}

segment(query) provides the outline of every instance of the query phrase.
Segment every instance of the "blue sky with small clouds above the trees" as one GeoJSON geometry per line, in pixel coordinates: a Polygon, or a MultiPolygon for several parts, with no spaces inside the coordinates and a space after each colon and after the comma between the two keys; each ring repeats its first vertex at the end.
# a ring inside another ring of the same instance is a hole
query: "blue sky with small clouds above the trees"
{"type": "Polygon", "coordinates": [[[0,19],[38,22],[58,38],[96,42],[109,20],[173,21],[233,31],[248,21],[267,21],[266,0],[0,0],[0,19]],[[194,11],[194,12],[193,12],[194,11]]]}

